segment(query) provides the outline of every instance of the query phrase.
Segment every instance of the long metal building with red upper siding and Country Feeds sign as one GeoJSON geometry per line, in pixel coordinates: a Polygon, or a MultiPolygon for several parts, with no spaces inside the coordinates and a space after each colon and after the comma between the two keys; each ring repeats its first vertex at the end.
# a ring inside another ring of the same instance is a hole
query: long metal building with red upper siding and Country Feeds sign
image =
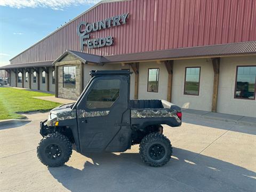
{"type": "Polygon", "coordinates": [[[255,0],[102,1],[1,67],[76,99],[90,70],[130,69],[131,98],[256,117],[255,0]]]}

